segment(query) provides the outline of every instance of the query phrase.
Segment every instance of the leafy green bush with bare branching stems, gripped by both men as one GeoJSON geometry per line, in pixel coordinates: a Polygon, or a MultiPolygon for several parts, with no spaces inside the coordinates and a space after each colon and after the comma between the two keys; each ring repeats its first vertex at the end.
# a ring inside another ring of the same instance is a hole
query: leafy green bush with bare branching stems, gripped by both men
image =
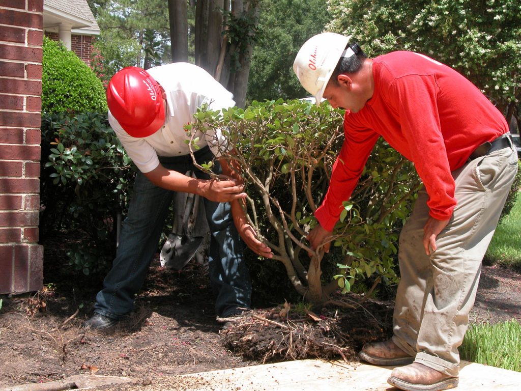
{"type": "Polygon", "coordinates": [[[310,249],[305,236],[318,224],[313,212],[343,141],[342,114],[327,104],[254,101],[244,110],[202,111],[189,126],[192,139],[201,137],[199,131],[229,129],[225,133],[234,148],[223,145],[221,150],[243,170],[251,224],[296,291],[316,303],[327,302],[339,288],[350,291],[356,279],[396,280],[396,228],[407,217],[419,184],[412,164],[380,140],[330,239],[339,251],[327,255],[324,267],[338,264],[338,269],[322,275],[325,255],[320,248],[310,249]]]}

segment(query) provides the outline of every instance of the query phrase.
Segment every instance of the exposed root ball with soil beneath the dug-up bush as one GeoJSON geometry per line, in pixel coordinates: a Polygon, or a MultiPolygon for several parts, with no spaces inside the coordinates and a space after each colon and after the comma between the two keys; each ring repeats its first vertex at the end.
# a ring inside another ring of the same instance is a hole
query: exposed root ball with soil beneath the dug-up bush
{"type": "Polygon", "coordinates": [[[281,307],[249,311],[221,333],[228,349],[266,363],[339,357],[356,361],[356,352],[364,343],[386,339],[391,332],[392,309],[367,301],[364,308],[343,312],[322,308],[318,316],[281,307]]]}

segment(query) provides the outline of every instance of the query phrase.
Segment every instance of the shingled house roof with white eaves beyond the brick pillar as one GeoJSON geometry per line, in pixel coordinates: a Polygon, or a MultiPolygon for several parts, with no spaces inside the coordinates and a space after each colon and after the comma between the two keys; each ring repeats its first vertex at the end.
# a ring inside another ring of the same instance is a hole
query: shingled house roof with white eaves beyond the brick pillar
{"type": "Polygon", "coordinates": [[[100,27],[92,15],[86,0],[44,0],[44,28],[52,28],[60,23],[71,26],[77,34],[98,35],[100,27]]]}

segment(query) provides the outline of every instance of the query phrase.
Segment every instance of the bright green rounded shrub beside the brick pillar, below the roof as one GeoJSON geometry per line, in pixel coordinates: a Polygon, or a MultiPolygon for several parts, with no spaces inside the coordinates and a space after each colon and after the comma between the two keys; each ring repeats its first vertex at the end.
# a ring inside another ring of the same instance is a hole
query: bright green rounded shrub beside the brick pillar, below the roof
{"type": "Polygon", "coordinates": [[[42,112],[106,112],[102,82],[75,53],[44,37],[42,112]]]}

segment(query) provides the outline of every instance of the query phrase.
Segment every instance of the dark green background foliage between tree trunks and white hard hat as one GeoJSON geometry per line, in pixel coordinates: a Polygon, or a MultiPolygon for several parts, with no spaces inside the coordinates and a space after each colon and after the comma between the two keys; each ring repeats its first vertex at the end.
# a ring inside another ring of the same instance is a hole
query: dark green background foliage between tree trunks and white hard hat
{"type": "Polygon", "coordinates": [[[300,46],[330,20],[326,0],[263,0],[261,35],[253,50],[247,100],[295,99],[307,95],[293,74],[300,46]]]}

